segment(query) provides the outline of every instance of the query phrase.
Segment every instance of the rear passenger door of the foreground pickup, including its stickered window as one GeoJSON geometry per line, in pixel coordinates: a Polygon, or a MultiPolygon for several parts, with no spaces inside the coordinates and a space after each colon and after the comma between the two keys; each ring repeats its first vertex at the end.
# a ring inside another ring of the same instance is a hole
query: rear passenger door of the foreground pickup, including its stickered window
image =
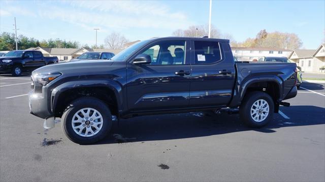
{"type": "Polygon", "coordinates": [[[228,43],[192,40],[190,107],[226,106],[232,98],[235,64],[228,43]]]}

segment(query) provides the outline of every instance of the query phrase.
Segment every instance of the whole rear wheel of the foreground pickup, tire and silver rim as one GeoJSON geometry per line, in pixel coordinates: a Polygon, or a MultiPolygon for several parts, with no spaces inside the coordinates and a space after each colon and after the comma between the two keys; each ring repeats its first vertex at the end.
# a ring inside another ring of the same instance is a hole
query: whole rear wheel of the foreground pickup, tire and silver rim
{"type": "Polygon", "coordinates": [[[264,92],[251,92],[245,95],[239,108],[241,120],[250,127],[263,127],[273,119],[274,102],[264,92]]]}

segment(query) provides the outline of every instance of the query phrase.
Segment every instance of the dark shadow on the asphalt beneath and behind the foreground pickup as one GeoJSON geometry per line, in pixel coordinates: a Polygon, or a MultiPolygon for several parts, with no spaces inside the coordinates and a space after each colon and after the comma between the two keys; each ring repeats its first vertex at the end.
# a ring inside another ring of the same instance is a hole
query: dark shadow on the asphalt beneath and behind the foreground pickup
{"type": "Polygon", "coordinates": [[[290,119],[274,114],[269,125],[256,129],[245,126],[239,114],[226,113],[216,115],[198,112],[121,119],[119,126],[116,124],[104,140],[94,145],[196,138],[247,130],[272,133],[282,127],[325,124],[325,108],[291,106],[286,114],[290,119]]]}

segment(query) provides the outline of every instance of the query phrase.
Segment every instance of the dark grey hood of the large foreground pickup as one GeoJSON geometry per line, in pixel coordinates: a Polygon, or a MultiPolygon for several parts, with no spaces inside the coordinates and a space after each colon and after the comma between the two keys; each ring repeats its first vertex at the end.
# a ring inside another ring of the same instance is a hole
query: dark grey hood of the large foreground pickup
{"type": "MultiPolygon", "coordinates": [[[[112,60],[65,62],[43,66],[34,70],[32,74],[48,74],[59,72],[66,75],[89,75],[92,73],[107,72],[108,70],[112,70],[114,69],[111,68],[113,63],[114,61],[112,60]]],[[[116,66],[114,67],[116,68],[116,66]]]]}

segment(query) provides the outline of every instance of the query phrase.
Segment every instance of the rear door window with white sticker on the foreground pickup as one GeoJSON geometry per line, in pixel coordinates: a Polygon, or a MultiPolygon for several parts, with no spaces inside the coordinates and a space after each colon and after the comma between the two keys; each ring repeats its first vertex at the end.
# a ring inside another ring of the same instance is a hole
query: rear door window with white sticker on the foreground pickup
{"type": "Polygon", "coordinates": [[[211,64],[221,60],[219,43],[194,41],[195,64],[211,64]]]}

